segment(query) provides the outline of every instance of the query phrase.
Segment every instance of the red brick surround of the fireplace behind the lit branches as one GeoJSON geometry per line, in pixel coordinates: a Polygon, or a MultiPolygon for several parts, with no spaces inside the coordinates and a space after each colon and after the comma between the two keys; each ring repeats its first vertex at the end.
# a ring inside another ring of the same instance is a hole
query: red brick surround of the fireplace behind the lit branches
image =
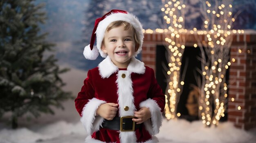
{"type": "MultiPolygon", "coordinates": [[[[206,35],[198,35],[206,39],[206,35]]],[[[156,71],[157,48],[163,48],[162,33],[145,33],[141,60],[156,71]]],[[[194,35],[186,35],[186,47],[197,43],[194,35]]],[[[236,61],[229,68],[227,120],[234,126],[249,130],[256,128],[256,31],[234,34],[230,58],[236,61]],[[240,106],[240,108],[238,108],[240,106]]],[[[189,70],[189,69],[188,69],[189,70]]],[[[162,80],[162,79],[160,79],[162,80]]]]}

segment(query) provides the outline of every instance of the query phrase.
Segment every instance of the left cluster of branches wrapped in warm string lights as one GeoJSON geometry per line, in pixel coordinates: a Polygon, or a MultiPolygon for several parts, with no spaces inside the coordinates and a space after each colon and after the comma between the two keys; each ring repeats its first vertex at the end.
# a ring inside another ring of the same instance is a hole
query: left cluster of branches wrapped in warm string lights
{"type": "MultiPolygon", "coordinates": [[[[180,79],[180,67],[182,65],[181,58],[185,49],[184,40],[181,40],[182,33],[188,30],[184,29],[184,13],[183,9],[186,7],[183,0],[165,0],[164,7],[161,11],[164,13],[164,20],[166,24],[166,31],[157,28],[155,32],[166,33],[165,42],[166,48],[170,50],[171,54],[168,58],[167,71],[169,80],[168,94],[166,95],[165,116],[167,119],[174,119],[180,117],[180,113],[175,113],[177,108],[177,99],[179,98],[184,81],[180,79]]],[[[147,31],[146,31],[147,32],[147,31]]],[[[148,31],[151,32],[151,31],[148,31]]]]}

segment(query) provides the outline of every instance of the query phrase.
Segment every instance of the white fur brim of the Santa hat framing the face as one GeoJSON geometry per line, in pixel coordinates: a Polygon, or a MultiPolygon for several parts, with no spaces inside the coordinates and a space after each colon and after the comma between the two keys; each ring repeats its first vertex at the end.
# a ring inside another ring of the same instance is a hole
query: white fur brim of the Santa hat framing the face
{"type": "Polygon", "coordinates": [[[137,54],[139,54],[139,52],[142,49],[141,47],[144,39],[144,34],[142,31],[142,24],[139,22],[138,18],[135,15],[132,15],[131,13],[112,13],[108,15],[104,20],[99,22],[99,25],[96,30],[97,48],[103,58],[106,58],[108,55],[101,50],[101,43],[103,41],[105,31],[110,23],[119,20],[128,22],[135,28],[137,39],[139,41],[139,50],[135,52],[135,56],[137,56],[137,54]]]}

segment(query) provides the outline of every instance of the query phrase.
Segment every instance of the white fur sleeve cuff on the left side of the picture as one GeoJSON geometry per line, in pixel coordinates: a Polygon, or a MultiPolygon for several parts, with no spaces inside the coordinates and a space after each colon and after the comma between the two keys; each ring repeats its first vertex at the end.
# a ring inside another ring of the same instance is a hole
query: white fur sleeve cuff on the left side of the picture
{"type": "Polygon", "coordinates": [[[87,104],[83,107],[82,117],[80,121],[85,128],[86,135],[91,135],[93,132],[99,130],[99,127],[103,123],[103,117],[96,116],[96,111],[101,104],[106,103],[106,101],[99,100],[97,98],[92,98],[87,104]]]}

